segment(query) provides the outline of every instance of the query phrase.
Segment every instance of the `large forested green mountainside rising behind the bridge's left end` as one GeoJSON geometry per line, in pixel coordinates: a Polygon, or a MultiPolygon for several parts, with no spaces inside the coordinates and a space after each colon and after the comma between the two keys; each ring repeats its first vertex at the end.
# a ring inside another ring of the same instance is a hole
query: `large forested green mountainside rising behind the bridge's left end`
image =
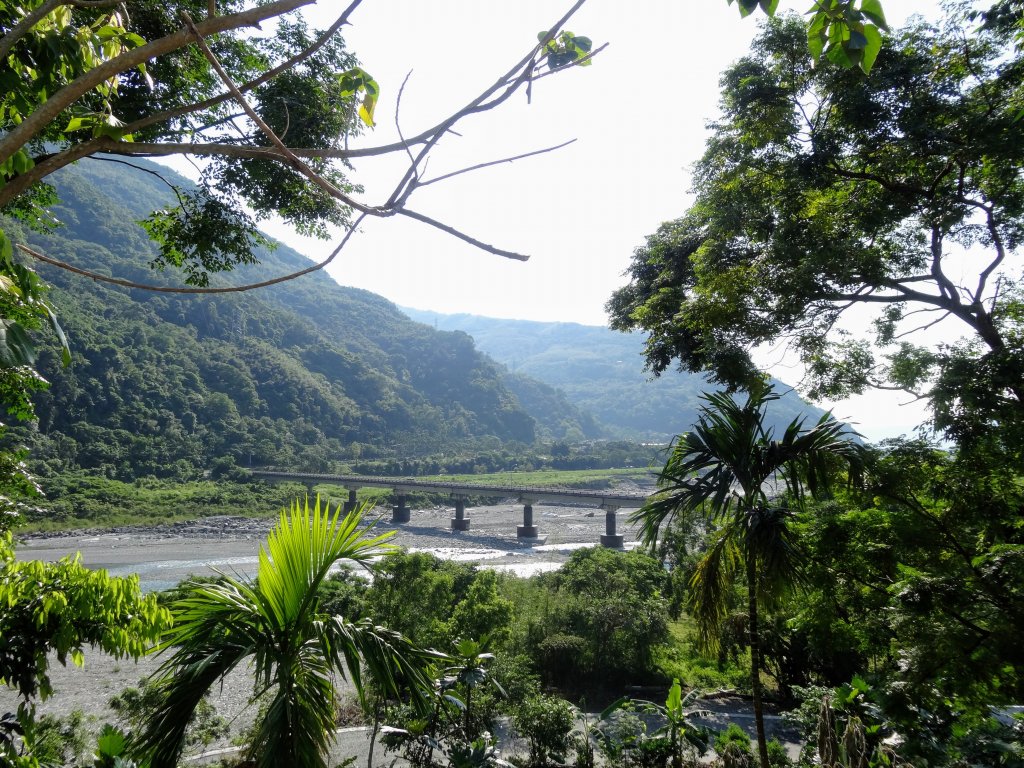
{"type": "MultiPolygon", "coordinates": [[[[165,178],[186,181],[161,166],[165,178]]],[[[51,177],[62,226],[3,226],[15,242],[94,271],[180,284],[152,271],[155,246],[135,222],[173,201],[152,173],[81,161],[51,177]]],[[[281,246],[225,281],[309,264],[281,246]]],[[[215,459],[326,471],[338,460],[494,450],[541,437],[597,437],[594,419],[539,382],[508,378],[472,339],[409,319],[387,300],[316,272],[244,294],[187,296],[118,288],[39,265],[69,334],[41,372],[38,430],[16,430],[52,470],[121,479],[195,476],[215,459]]]]}

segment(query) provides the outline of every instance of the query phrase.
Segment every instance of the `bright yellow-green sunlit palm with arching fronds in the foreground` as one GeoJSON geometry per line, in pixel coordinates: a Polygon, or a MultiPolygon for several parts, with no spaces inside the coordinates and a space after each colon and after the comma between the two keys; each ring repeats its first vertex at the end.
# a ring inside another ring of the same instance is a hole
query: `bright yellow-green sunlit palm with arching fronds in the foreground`
{"type": "Polygon", "coordinates": [[[203,695],[243,662],[252,659],[253,699],[268,705],[254,727],[249,757],[257,766],[326,766],[334,730],[335,674],[348,677],[360,696],[360,662],[388,692],[411,684],[429,690],[424,673],[431,654],[398,633],[368,620],[352,623],[319,610],[317,588],[340,560],[366,564],[390,551],[360,526],[366,507],[340,516],[295,502],[281,513],[260,547],[255,581],[223,575],[196,583],[171,610],[174,626],[162,648],[171,656],[158,683],[162,703],[135,743],[153,768],[177,765],[185,725],[203,695]]]}

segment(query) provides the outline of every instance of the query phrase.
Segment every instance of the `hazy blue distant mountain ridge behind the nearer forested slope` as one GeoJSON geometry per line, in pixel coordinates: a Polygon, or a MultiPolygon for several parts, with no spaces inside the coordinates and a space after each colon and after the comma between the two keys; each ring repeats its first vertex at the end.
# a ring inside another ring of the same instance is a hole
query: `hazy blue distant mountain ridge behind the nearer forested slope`
{"type": "MultiPolygon", "coordinates": [[[[667,371],[656,379],[643,370],[644,335],[600,326],[534,323],[473,314],[439,314],[404,309],[414,319],[441,331],[464,331],[476,346],[509,370],[505,384],[521,394],[520,381],[538,379],[592,413],[615,436],[668,440],[696,419],[700,393],[715,387],[702,376],[667,371]]],[[[808,423],[823,413],[785,385],[768,411],[777,429],[804,414],[808,423]]]]}

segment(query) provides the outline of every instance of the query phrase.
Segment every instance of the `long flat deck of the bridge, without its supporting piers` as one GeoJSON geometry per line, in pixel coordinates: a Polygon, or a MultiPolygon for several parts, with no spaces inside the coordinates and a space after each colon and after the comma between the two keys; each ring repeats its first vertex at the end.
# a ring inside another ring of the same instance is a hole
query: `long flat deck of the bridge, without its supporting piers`
{"type": "Polygon", "coordinates": [[[524,503],[559,502],[593,504],[595,507],[617,507],[636,509],[642,507],[647,497],[644,494],[615,494],[609,490],[580,488],[552,488],[532,485],[492,485],[468,482],[443,482],[418,480],[413,477],[379,477],[372,475],[325,475],[308,472],[270,472],[254,470],[254,477],[266,480],[294,480],[305,484],[331,483],[344,487],[379,487],[393,490],[450,494],[454,497],[466,496],[514,496],[524,503]]]}

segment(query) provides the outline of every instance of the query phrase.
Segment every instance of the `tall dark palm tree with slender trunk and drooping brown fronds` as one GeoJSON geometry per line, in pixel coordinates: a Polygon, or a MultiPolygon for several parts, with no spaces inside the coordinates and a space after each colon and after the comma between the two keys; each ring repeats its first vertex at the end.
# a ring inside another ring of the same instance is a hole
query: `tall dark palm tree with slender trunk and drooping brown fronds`
{"type": "Polygon", "coordinates": [[[855,433],[830,414],[810,429],[795,419],[781,439],[774,439],[764,416],[779,395],[764,380],[751,386],[742,404],[724,392],[701,397],[707,404],[693,430],[676,439],[658,476],[658,493],[630,519],[640,523],[641,537],[651,547],[662,525],[674,519],[708,531],[708,550],[690,580],[689,598],[707,649],[718,646],[734,577],[745,575],[751,688],[761,765],[767,766],[759,602],[777,599],[801,573],[785,502],[799,505],[807,495],[820,496],[844,465],[855,477],[863,450],[853,440],[855,433]]]}

